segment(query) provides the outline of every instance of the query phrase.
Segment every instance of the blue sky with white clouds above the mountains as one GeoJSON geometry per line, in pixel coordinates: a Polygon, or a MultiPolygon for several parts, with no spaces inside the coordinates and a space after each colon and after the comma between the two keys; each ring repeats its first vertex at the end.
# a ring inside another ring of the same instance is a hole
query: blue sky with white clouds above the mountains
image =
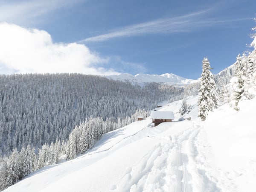
{"type": "Polygon", "coordinates": [[[217,74],[251,50],[255,0],[1,0],[0,74],[217,74]]]}

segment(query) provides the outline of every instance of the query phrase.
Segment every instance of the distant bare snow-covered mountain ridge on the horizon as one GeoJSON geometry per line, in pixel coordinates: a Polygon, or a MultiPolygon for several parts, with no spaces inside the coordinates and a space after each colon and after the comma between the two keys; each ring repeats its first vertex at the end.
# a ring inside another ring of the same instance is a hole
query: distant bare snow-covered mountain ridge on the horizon
{"type": "Polygon", "coordinates": [[[149,82],[159,82],[172,85],[186,85],[198,82],[198,80],[186,79],[184,77],[177,76],[172,73],[165,73],[163,75],[148,75],[148,74],[137,74],[135,76],[129,73],[123,73],[120,75],[106,76],[109,79],[121,80],[121,81],[131,81],[132,83],[149,83],[149,82]]]}

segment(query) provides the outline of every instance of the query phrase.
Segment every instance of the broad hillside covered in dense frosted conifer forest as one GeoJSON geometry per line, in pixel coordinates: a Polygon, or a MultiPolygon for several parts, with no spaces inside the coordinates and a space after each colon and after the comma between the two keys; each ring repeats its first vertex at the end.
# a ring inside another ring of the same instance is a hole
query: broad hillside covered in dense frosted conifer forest
{"type": "Polygon", "coordinates": [[[137,109],[181,99],[182,93],[169,85],[142,88],[82,74],[0,75],[0,157],[14,148],[66,141],[70,131],[90,117],[122,121],[137,109]]]}

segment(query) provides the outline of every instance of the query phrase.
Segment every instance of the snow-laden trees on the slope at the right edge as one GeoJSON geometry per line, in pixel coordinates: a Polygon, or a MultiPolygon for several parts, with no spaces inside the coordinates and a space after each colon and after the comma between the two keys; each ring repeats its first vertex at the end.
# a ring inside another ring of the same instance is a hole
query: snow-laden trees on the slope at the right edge
{"type": "Polygon", "coordinates": [[[239,111],[240,100],[256,95],[256,49],[237,55],[236,62],[215,76],[221,104],[239,111]]]}

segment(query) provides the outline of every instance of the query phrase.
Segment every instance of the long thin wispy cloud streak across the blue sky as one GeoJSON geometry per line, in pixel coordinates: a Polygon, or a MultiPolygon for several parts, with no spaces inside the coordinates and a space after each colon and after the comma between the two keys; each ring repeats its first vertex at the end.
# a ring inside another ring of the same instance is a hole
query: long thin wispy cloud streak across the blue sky
{"type": "Polygon", "coordinates": [[[111,38],[129,37],[144,34],[172,34],[177,32],[191,32],[205,27],[212,27],[217,25],[224,26],[226,23],[251,19],[219,19],[209,17],[209,13],[213,12],[218,6],[219,5],[204,9],[199,12],[192,12],[190,14],[177,17],[165,17],[157,20],[151,20],[145,23],[139,23],[118,29],[113,29],[108,33],[86,38],[79,42],[83,43],[90,41],[106,41],[111,38]]]}

